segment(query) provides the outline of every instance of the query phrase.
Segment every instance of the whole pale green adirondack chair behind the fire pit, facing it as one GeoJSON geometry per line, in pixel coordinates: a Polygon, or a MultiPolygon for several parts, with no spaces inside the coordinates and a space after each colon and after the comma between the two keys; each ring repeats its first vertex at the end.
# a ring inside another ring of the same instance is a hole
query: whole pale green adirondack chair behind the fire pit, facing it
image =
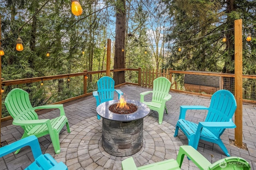
{"type": "Polygon", "coordinates": [[[165,77],[158,77],[153,81],[153,91],[140,93],[140,102],[146,104],[151,110],[158,112],[158,123],[162,124],[164,109],[167,112],[165,103],[172,98],[169,94],[171,82],[165,77]],[[144,96],[152,93],[152,101],[145,102],[144,96]]]}

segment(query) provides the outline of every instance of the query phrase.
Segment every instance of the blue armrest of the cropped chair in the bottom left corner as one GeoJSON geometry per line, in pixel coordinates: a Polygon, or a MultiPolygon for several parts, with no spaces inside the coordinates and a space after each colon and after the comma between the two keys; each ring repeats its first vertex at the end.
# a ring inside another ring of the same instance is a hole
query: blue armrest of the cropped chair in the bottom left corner
{"type": "Polygon", "coordinates": [[[22,147],[30,146],[34,159],[38,158],[38,156],[42,155],[42,151],[40,148],[40,145],[38,143],[38,139],[36,136],[32,135],[23,139],[20,139],[19,141],[15,141],[14,143],[11,143],[9,145],[6,145],[4,147],[0,148],[0,157],[9,154],[11,152],[14,152],[22,147]]]}

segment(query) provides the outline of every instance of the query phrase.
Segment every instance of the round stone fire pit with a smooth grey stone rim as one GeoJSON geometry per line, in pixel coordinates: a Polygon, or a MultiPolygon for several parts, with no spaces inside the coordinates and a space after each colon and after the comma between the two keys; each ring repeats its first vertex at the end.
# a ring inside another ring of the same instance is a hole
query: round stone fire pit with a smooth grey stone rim
{"type": "Polygon", "coordinates": [[[102,117],[102,147],[114,156],[130,156],[138,152],[143,143],[143,118],[150,109],[146,104],[126,100],[138,109],[133,113],[113,113],[109,107],[118,103],[111,100],[100,104],[96,111],[102,117]]]}

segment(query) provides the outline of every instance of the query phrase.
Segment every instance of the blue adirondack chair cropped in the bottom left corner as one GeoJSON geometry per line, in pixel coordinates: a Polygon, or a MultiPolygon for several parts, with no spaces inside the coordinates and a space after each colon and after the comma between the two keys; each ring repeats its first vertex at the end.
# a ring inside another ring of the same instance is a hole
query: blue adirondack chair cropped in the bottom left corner
{"type": "Polygon", "coordinates": [[[35,161],[25,168],[25,170],[68,170],[63,162],[56,162],[56,160],[48,153],[42,154],[38,139],[34,135],[1,147],[0,157],[26,146],[31,147],[35,161]]]}

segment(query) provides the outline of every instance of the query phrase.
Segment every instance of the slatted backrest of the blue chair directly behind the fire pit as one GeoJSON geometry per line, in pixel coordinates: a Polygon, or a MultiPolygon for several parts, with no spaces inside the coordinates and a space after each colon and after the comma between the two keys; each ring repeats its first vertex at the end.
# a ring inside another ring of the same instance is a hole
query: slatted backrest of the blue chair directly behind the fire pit
{"type": "Polygon", "coordinates": [[[97,84],[100,103],[114,99],[115,81],[112,78],[104,76],[98,80],[97,84]]]}

